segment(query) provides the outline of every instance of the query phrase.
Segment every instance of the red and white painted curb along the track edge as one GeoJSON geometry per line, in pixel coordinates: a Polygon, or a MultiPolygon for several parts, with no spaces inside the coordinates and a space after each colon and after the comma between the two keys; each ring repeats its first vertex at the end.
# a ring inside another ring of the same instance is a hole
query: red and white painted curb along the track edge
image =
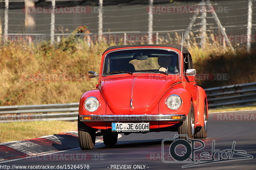
{"type": "MultiPolygon", "coordinates": [[[[118,134],[118,138],[120,137],[122,136],[118,134]]],[[[103,142],[102,136],[96,137],[95,143],[101,142],[103,142]]],[[[77,131],[68,131],[28,140],[4,142],[0,144],[0,163],[10,159],[72,150],[74,148],[79,148],[77,131]]]]}

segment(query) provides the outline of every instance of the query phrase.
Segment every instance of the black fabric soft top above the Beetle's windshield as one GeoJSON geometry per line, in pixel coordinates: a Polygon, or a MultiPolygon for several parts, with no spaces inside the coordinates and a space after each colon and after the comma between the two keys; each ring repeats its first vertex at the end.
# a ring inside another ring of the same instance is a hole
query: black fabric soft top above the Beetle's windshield
{"type": "MultiPolygon", "coordinates": [[[[181,45],[180,44],[145,44],[145,45],[120,45],[120,46],[111,46],[111,47],[108,47],[104,52],[103,54],[110,50],[110,49],[115,49],[115,48],[125,48],[125,47],[150,47],[150,46],[153,46],[153,47],[171,47],[171,48],[176,48],[178,50],[181,51],[181,45]]],[[[182,47],[182,53],[189,53],[188,49],[185,48],[184,46],[182,47]]]]}

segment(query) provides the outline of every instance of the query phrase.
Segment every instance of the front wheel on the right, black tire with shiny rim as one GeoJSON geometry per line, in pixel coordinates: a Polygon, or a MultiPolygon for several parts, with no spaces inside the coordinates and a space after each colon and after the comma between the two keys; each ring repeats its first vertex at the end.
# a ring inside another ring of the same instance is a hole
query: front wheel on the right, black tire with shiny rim
{"type": "MultiPolygon", "coordinates": [[[[193,139],[194,134],[195,134],[195,110],[194,110],[194,105],[191,101],[190,104],[190,110],[187,115],[187,119],[183,122],[180,122],[180,126],[178,127],[178,134],[179,135],[188,135],[188,138],[193,139]],[[194,129],[194,131],[192,131],[194,129]]],[[[187,137],[179,137],[180,139],[187,140],[187,137]]]]}

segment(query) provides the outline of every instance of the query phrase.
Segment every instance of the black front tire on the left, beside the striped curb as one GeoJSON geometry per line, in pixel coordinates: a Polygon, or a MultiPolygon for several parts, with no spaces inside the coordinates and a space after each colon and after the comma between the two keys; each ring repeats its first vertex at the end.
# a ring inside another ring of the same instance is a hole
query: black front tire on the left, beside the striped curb
{"type": "Polygon", "coordinates": [[[96,139],[96,129],[86,126],[83,122],[79,120],[77,122],[78,128],[78,141],[80,148],[82,150],[93,149],[96,139]]]}

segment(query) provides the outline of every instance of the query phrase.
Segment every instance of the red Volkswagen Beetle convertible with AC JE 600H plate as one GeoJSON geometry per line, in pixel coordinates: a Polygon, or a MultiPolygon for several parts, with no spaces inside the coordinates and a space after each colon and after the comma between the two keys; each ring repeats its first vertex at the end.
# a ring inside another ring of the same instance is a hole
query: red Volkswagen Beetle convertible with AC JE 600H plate
{"type": "MultiPolygon", "coordinates": [[[[125,45],[106,49],[95,90],[79,104],[81,149],[94,148],[96,132],[105,145],[118,133],[178,131],[189,138],[207,136],[208,107],[196,85],[192,58],[181,45],[125,45]]],[[[97,136],[98,136],[97,135],[97,136]]]]}

